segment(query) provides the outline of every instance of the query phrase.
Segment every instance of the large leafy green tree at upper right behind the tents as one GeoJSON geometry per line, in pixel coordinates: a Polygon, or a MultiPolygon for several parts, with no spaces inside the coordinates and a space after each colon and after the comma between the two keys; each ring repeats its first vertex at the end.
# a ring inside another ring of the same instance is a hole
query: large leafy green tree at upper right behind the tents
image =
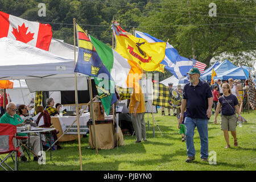
{"type": "Polygon", "coordinates": [[[193,57],[193,46],[195,58],[209,65],[222,52],[236,56],[251,51],[253,42],[248,40],[255,40],[256,35],[253,12],[254,1],[194,0],[188,6],[188,1],[163,0],[161,9],[143,18],[138,30],[164,41],[170,39],[169,43],[184,57],[193,57]],[[216,3],[217,16],[208,14],[211,2],[216,3]]]}

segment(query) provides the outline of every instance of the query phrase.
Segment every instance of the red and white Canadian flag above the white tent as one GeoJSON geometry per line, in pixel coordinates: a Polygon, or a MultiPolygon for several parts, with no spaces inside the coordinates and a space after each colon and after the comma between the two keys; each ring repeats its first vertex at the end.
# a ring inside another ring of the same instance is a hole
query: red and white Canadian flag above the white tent
{"type": "Polygon", "coordinates": [[[49,24],[28,20],[0,11],[0,38],[8,37],[48,51],[52,39],[49,24]]]}

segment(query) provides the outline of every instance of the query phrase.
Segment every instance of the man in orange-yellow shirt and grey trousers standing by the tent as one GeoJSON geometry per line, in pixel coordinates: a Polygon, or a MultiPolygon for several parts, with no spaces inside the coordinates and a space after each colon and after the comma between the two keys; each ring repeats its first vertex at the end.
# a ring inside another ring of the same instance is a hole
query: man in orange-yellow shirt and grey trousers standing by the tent
{"type": "Polygon", "coordinates": [[[136,135],[136,142],[139,143],[147,140],[146,125],[144,120],[145,115],[145,100],[142,93],[141,86],[135,84],[133,93],[131,94],[131,102],[129,105],[129,113],[131,113],[131,122],[136,135]]]}

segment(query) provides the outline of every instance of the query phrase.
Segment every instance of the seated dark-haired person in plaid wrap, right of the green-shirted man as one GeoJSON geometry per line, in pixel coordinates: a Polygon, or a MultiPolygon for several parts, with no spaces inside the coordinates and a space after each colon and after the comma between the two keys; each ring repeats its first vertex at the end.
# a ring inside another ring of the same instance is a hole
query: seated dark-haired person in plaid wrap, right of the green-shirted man
{"type": "MultiPolygon", "coordinates": [[[[36,122],[36,125],[39,127],[51,127],[51,116],[48,114],[46,110],[43,110],[43,106],[37,106],[36,107],[36,116],[34,117],[34,121],[36,122]]],[[[54,141],[57,140],[57,134],[59,133],[59,130],[53,130],[52,136],[54,141]]],[[[47,135],[48,136],[48,135],[47,135]]],[[[49,147],[49,145],[52,142],[46,141],[43,142],[45,147],[49,147]]],[[[60,146],[59,142],[55,143],[57,145],[57,150],[60,150],[62,147],[60,146]]]]}

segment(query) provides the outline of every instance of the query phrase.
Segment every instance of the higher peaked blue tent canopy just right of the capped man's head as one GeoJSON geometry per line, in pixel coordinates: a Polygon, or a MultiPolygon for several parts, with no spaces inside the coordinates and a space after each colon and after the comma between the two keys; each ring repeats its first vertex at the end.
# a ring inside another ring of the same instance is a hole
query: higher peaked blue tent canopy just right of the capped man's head
{"type": "MultiPolygon", "coordinates": [[[[225,59],[222,61],[221,64],[217,65],[217,67],[213,68],[216,75],[220,75],[226,71],[230,71],[230,69],[237,68],[236,65],[231,63],[229,60],[225,59]]],[[[207,73],[204,73],[203,75],[200,76],[200,80],[208,80],[210,81],[212,79],[212,71],[209,71],[207,73]]]]}

